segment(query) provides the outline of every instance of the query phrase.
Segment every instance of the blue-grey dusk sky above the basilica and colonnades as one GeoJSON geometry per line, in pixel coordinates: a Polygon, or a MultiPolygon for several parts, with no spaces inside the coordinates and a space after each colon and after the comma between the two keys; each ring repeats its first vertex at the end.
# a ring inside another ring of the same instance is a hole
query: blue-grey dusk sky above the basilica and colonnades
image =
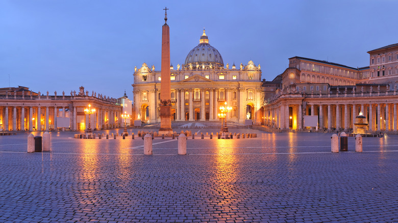
{"type": "Polygon", "coordinates": [[[267,80],[294,56],[364,67],[367,51],[398,43],[393,0],[0,0],[0,88],[132,98],[134,67],[160,70],[166,6],[175,68],[204,27],[225,64],[252,60],[267,80]]]}

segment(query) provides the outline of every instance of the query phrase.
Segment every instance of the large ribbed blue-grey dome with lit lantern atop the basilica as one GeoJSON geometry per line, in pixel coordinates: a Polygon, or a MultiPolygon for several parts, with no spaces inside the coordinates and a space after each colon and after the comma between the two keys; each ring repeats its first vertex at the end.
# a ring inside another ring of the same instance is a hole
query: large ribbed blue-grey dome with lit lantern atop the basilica
{"type": "Polygon", "coordinates": [[[221,54],[218,50],[209,44],[209,39],[206,36],[205,30],[203,30],[203,35],[199,40],[199,45],[195,46],[187,55],[185,59],[185,66],[192,67],[199,65],[212,65],[212,66],[224,66],[221,54]]]}

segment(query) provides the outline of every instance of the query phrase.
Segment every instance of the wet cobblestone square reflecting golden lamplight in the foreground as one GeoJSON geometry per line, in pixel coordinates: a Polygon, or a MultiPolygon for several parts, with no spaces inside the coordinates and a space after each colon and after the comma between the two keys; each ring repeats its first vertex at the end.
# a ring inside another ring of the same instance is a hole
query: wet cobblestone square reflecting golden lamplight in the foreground
{"type": "Polygon", "coordinates": [[[217,129],[192,129],[188,155],[166,138],[151,156],[137,135],[52,133],[43,153],[26,152],[27,133],[0,136],[0,222],[398,221],[398,136],[364,137],[363,153],[350,137],[349,152],[331,153],[330,133],[206,131],[217,129]]]}

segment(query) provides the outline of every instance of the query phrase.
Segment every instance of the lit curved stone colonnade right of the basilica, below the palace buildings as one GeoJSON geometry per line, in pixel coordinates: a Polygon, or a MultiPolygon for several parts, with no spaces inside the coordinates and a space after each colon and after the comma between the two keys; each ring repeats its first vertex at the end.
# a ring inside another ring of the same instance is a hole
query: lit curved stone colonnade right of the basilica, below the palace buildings
{"type": "Polygon", "coordinates": [[[304,116],[318,116],[318,128],[349,130],[354,128],[356,117],[362,112],[369,131],[396,131],[397,104],[384,100],[370,102],[319,103],[311,100],[283,101],[265,106],[265,125],[280,129],[305,129],[304,116]]]}

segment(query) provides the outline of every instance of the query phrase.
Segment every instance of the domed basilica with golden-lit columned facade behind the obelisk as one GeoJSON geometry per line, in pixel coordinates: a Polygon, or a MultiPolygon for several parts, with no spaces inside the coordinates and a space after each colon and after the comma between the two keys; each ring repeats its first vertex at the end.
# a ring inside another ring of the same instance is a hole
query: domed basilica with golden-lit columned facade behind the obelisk
{"type": "MultiPolygon", "coordinates": [[[[231,106],[229,121],[260,124],[264,93],[260,65],[252,61],[239,66],[224,64],[221,54],[209,44],[203,31],[199,44],[185,62],[170,66],[171,113],[173,121],[216,121],[220,106],[231,106]]],[[[143,63],[134,69],[135,119],[160,122],[161,71],[143,63]]]]}

